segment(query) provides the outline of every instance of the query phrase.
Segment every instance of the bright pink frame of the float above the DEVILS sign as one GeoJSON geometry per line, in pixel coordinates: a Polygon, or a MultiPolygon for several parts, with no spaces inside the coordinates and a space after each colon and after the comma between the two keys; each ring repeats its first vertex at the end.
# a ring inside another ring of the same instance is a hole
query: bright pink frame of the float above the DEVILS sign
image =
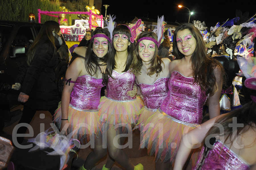
{"type": "Polygon", "coordinates": [[[48,15],[48,16],[53,16],[53,17],[59,17],[58,15],[52,15],[52,14],[87,14],[89,15],[89,28],[92,29],[92,27],[96,28],[97,26],[92,25],[92,15],[96,16],[96,18],[101,19],[101,24],[100,27],[103,27],[103,16],[102,15],[97,15],[90,12],[61,12],[61,11],[41,11],[41,9],[38,9],[38,22],[41,23],[41,14],[43,15],[48,15]]]}

